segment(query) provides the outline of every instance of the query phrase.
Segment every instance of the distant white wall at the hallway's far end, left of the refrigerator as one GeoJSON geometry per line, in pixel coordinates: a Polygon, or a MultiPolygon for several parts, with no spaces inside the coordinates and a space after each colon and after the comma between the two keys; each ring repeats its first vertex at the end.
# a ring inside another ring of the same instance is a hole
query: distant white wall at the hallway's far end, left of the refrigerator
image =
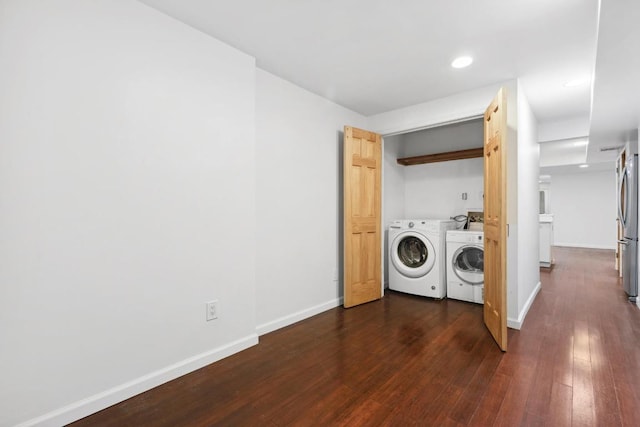
{"type": "Polygon", "coordinates": [[[615,249],[615,170],[551,175],[555,246],[615,249]]]}

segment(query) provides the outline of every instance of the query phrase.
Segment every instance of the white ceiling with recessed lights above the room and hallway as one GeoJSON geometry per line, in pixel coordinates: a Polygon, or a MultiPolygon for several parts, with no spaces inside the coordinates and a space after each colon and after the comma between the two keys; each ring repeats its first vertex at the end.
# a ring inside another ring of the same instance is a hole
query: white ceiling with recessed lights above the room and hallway
{"type": "MultiPolygon", "coordinates": [[[[640,122],[637,0],[602,0],[599,27],[599,0],[141,1],[366,116],[519,78],[539,123],[591,117],[610,145],[640,122]],[[463,54],[473,64],[451,68],[463,54]],[[564,86],[594,70],[592,85],[564,86]]],[[[590,143],[589,161],[600,155],[590,143]]]]}

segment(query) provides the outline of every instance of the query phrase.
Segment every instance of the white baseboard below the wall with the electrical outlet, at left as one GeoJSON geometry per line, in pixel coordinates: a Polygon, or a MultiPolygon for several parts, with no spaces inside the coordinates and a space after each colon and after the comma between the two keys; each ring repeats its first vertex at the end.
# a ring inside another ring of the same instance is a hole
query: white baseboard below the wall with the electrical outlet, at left
{"type": "Polygon", "coordinates": [[[256,334],[248,335],[222,347],[198,354],[110,390],[87,397],[37,418],[32,418],[16,427],[49,427],[69,424],[256,344],[258,344],[258,336],[256,334]]]}

